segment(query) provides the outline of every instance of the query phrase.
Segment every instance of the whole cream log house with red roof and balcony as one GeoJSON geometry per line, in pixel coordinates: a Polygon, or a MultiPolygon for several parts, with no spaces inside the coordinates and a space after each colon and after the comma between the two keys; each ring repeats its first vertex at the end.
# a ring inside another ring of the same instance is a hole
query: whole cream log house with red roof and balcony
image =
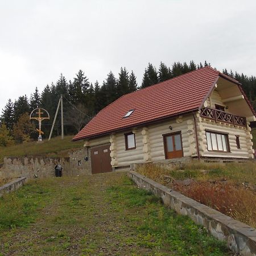
{"type": "Polygon", "coordinates": [[[204,67],[123,95],[73,141],[84,139],[92,174],[165,159],[253,159],[255,120],[241,84],[204,67]]]}

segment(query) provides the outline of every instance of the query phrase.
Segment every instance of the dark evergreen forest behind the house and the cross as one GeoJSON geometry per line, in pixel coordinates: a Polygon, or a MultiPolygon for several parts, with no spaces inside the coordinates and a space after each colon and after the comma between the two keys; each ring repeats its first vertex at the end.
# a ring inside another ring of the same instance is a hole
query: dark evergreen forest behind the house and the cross
{"type": "MultiPolygon", "coordinates": [[[[76,134],[86,125],[101,109],[117,100],[123,94],[134,92],[135,90],[146,88],[147,86],[162,82],[184,73],[203,68],[210,63],[195,64],[174,63],[171,67],[160,63],[156,69],[148,63],[144,69],[141,85],[138,85],[137,78],[133,71],[129,72],[125,67],[121,67],[118,76],[112,71],[108,73],[106,79],[99,84],[98,81],[89,81],[85,72],[79,70],[73,80],[60,74],[59,79],[51,85],[46,85],[42,92],[36,87],[31,96],[23,95],[14,102],[9,99],[2,109],[0,126],[0,146],[8,146],[14,143],[22,143],[38,138],[36,132],[37,122],[30,121],[29,114],[35,108],[43,108],[49,112],[50,119],[42,122],[43,138],[48,138],[51,130],[53,118],[59,102],[60,94],[63,95],[64,109],[64,134],[76,134]]],[[[242,84],[247,97],[256,107],[256,77],[247,76],[243,73],[222,71],[226,75],[238,80],[242,84]]],[[[53,129],[53,137],[61,134],[60,114],[57,115],[53,129]]]]}

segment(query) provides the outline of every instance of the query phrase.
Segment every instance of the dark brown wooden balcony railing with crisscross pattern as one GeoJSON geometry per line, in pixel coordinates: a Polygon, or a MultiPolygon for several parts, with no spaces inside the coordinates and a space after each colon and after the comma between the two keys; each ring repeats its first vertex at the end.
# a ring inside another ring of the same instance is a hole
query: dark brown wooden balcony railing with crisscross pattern
{"type": "Polygon", "coordinates": [[[216,123],[217,121],[220,121],[225,123],[232,123],[234,126],[246,127],[245,117],[238,117],[238,115],[229,114],[221,110],[204,108],[201,109],[200,115],[204,118],[213,119],[216,123]]]}

